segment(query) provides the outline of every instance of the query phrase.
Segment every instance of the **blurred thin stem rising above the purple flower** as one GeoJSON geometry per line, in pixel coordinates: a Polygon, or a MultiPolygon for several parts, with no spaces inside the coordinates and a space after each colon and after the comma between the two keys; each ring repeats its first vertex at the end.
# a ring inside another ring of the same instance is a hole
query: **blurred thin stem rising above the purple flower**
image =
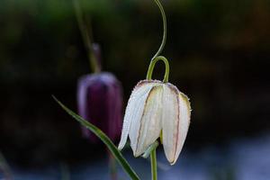
{"type": "Polygon", "coordinates": [[[94,48],[93,48],[93,43],[90,38],[90,32],[88,32],[88,28],[84,23],[82,9],[78,1],[79,0],[73,0],[77,24],[78,24],[79,30],[81,31],[82,38],[84,40],[85,49],[87,50],[87,53],[88,53],[88,60],[89,60],[90,68],[92,68],[94,73],[98,73],[101,71],[101,67],[98,66],[99,65],[98,59],[94,56],[94,48]]]}

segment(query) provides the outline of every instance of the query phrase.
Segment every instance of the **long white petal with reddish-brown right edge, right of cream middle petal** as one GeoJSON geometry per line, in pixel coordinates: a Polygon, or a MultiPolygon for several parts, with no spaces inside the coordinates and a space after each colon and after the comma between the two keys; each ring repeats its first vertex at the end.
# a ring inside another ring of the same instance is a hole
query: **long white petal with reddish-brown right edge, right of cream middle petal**
{"type": "Polygon", "coordinates": [[[162,141],[167,160],[175,162],[178,139],[179,106],[178,92],[170,85],[164,85],[162,108],[162,141]]]}

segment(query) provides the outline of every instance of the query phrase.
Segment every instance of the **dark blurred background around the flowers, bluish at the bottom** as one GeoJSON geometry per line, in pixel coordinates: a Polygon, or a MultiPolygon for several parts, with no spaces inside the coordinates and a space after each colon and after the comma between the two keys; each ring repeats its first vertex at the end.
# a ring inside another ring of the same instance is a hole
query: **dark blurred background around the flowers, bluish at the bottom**
{"type": "MultiPolygon", "coordinates": [[[[163,0],[170,82],[192,103],[183,154],[160,179],[270,179],[270,1],[163,0]],[[169,176],[171,175],[171,176],[169,176]]],[[[103,69],[124,103],[159,47],[162,19],[151,0],[82,0],[103,69]]],[[[76,82],[91,73],[68,0],[0,0],[0,150],[14,179],[108,179],[102,144],[51,98],[76,110],[76,82]]],[[[162,79],[162,63],[154,75],[162,79]]],[[[125,156],[144,179],[149,163],[125,156]]],[[[120,179],[127,179],[119,167],[120,179]]],[[[0,173],[0,178],[4,175],[0,173]]]]}

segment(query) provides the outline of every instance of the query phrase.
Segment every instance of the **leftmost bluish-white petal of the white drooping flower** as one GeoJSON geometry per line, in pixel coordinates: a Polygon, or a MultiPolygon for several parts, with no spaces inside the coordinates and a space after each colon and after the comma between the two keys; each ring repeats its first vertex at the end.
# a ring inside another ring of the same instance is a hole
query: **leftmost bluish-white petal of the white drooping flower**
{"type": "Polygon", "coordinates": [[[121,140],[118,146],[119,149],[122,149],[126,144],[129,133],[131,133],[130,146],[132,149],[135,149],[134,143],[138,138],[138,131],[136,133],[136,130],[139,130],[139,120],[142,116],[143,106],[152,87],[153,84],[139,82],[139,84],[135,86],[134,90],[130,94],[130,100],[124,115],[124,121],[121,130],[121,140]],[[130,126],[134,127],[131,129],[130,126]]]}

